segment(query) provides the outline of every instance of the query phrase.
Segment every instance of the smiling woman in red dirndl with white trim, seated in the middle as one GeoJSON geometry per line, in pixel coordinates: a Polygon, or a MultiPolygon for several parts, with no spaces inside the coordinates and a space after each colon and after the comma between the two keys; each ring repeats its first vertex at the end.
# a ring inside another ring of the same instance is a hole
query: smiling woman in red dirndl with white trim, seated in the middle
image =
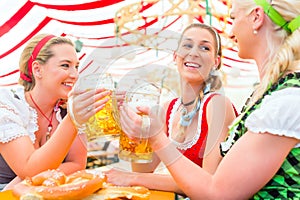
{"type": "MultiPolygon", "coordinates": [[[[222,159],[219,145],[236,117],[232,103],[220,92],[222,83],[217,70],[221,67],[221,57],[221,39],[212,26],[188,25],[174,52],[181,96],[167,102],[166,111],[159,117],[165,123],[166,136],[182,155],[209,173],[215,172],[222,159]]],[[[131,116],[121,116],[122,119],[128,119],[122,126],[125,132],[140,125],[130,123],[131,116]]],[[[171,176],[149,173],[159,163],[160,159],[154,156],[150,164],[132,163],[134,173],[112,169],[106,175],[109,182],[117,185],[143,185],[182,194],[171,176]]]]}

